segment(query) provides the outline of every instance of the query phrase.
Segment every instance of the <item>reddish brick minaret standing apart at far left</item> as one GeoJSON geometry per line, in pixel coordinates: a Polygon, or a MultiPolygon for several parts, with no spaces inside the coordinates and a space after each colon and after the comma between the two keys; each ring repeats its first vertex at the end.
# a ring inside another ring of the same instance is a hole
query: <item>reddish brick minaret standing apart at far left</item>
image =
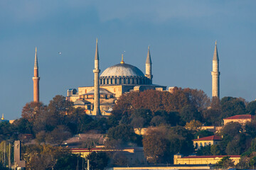
{"type": "Polygon", "coordinates": [[[37,53],[36,53],[34,77],[33,77],[33,101],[34,102],[39,102],[39,80],[40,80],[40,77],[38,77],[38,59],[37,59],[37,53]]]}

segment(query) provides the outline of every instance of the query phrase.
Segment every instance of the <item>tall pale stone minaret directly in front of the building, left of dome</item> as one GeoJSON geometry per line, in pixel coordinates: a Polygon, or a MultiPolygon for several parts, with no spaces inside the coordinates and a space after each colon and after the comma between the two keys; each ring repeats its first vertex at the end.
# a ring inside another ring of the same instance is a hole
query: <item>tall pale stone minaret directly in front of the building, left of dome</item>
{"type": "Polygon", "coordinates": [[[95,50],[95,69],[93,69],[95,74],[94,79],[94,108],[93,108],[93,115],[100,115],[100,86],[99,86],[99,53],[97,49],[97,40],[96,40],[96,50],[95,50]]]}

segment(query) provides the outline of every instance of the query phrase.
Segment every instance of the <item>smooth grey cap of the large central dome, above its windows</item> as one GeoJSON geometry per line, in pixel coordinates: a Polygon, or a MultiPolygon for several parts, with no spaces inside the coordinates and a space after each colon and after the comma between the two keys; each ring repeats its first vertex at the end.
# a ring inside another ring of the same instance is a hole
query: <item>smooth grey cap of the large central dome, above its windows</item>
{"type": "Polygon", "coordinates": [[[137,67],[123,63],[108,67],[100,77],[144,77],[144,74],[137,67]]]}

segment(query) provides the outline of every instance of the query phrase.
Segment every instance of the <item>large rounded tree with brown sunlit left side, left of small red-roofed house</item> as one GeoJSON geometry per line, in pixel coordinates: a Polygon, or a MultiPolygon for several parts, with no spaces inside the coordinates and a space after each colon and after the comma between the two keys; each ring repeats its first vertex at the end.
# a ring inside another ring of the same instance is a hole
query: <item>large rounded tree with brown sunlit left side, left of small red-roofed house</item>
{"type": "Polygon", "coordinates": [[[190,154],[193,152],[193,135],[181,126],[169,127],[161,125],[149,128],[143,136],[144,153],[149,162],[172,162],[177,152],[190,154]]]}

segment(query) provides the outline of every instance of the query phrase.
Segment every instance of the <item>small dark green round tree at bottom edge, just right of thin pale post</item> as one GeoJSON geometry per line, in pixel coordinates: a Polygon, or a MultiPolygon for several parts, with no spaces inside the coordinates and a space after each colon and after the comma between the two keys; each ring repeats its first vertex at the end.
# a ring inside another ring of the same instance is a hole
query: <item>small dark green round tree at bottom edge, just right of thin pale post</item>
{"type": "Polygon", "coordinates": [[[87,156],[87,159],[90,160],[91,168],[97,170],[104,169],[110,158],[107,156],[106,152],[92,152],[87,156]]]}

